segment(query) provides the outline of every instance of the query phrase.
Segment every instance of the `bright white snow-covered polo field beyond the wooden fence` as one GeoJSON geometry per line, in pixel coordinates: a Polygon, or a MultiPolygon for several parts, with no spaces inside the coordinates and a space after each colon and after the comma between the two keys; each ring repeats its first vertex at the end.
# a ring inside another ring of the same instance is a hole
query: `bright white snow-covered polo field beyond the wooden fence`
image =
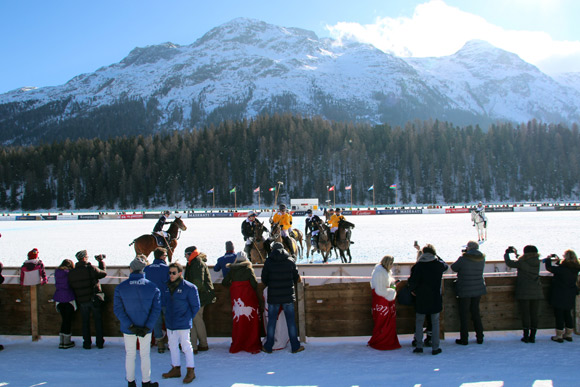
{"type": "MultiPolygon", "coordinates": [[[[515,246],[522,251],[527,244],[538,247],[540,254],[565,249],[580,249],[580,213],[576,211],[488,213],[488,240],[482,251],[488,260],[503,260],[504,250],[515,246]]],[[[260,217],[268,223],[267,217],[260,217]]],[[[469,240],[477,240],[469,214],[373,215],[348,216],[356,227],[351,247],[353,262],[378,262],[385,254],[395,262],[413,262],[413,242],[432,243],[446,261],[454,261],[469,240]]],[[[243,218],[185,219],[188,227],[181,233],[176,256],[184,262],[183,250],[195,245],[214,264],[224,254],[225,242],[231,240],[237,250],[243,248],[240,226],[243,218]]],[[[295,217],[294,226],[304,230],[304,217],[295,217]]],[[[47,266],[56,266],[64,258],[87,249],[89,254],[106,254],[108,265],[128,265],[135,252],[129,243],[150,233],[154,219],[131,220],[58,220],[0,222],[0,261],[5,266],[20,266],[33,248],[47,266]]],[[[315,262],[322,262],[319,255],[315,262]]],[[[333,260],[331,262],[338,262],[333,260]]]]}

